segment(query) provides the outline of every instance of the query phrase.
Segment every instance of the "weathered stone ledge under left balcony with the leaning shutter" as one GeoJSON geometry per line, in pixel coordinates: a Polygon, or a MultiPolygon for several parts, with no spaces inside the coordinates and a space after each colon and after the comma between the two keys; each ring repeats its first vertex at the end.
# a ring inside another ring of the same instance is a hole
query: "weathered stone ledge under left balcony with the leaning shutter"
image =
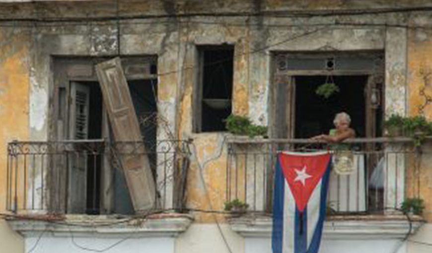
{"type": "Polygon", "coordinates": [[[134,237],[175,237],[186,231],[193,217],[187,214],[158,214],[144,218],[105,215],[67,215],[64,219],[8,219],[9,226],[26,236],[51,232],[55,237],[118,237],[133,234],[134,237]]]}

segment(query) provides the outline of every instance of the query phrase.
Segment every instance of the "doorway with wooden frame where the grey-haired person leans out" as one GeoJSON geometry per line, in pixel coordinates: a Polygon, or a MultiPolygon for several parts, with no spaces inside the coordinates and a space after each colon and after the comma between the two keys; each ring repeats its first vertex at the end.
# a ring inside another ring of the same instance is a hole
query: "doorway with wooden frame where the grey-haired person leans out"
{"type": "MultiPolygon", "coordinates": [[[[326,52],[278,53],[275,55],[272,89],[272,136],[274,138],[310,138],[328,134],[335,128],[335,115],[346,112],[351,117],[351,127],[358,138],[381,136],[384,104],[383,55],[380,52],[326,52]],[[317,88],[329,82],[339,92],[324,98],[316,94],[317,88]]],[[[373,141],[373,140],[371,140],[373,141]]],[[[332,148],[315,143],[312,148],[332,148]]],[[[332,171],[329,181],[329,202],[338,212],[370,211],[371,189],[367,182],[382,147],[378,143],[341,145],[343,151],[354,150],[355,173],[339,175],[332,171]]],[[[304,147],[281,145],[281,149],[304,147]]],[[[336,147],[336,146],[335,146],[336,147]]],[[[337,147],[336,147],[337,148],[337,147]]],[[[341,151],[341,149],[339,149],[341,151]]],[[[373,190],[373,189],[372,189],[373,190]]],[[[374,193],[379,206],[382,197],[374,193]]],[[[333,208],[333,207],[332,207],[333,208]]]]}

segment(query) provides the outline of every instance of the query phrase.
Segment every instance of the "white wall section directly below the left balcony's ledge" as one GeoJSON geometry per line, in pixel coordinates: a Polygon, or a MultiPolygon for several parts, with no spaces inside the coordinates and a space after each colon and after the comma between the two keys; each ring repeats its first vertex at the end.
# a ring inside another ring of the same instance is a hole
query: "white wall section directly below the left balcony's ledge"
{"type": "Polygon", "coordinates": [[[72,237],[70,236],[59,237],[54,236],[51,232],[46,232],[38,242],[40,235],[40,233],[34,233],[31,236],[26,237],[25,252],[29,252],[33,249],[32,253],[88,253],[90,252],[89,249],[93,250],[93,252],[101,251],[116,244],[110,250],[105,252],[173,253],[175,240],[172,237],[134,238],[129,234],[105,238],[91,237],[90,235],[87,235],[86,237],[74,237],[72,241],[72,237]],[[81,249],[77,245],[85,247],[87,250],[81,249]]]}

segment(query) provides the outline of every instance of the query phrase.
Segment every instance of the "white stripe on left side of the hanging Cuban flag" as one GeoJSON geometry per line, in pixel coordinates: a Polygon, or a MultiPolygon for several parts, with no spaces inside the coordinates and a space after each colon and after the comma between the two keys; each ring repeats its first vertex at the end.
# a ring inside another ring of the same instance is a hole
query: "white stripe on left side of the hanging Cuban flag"
{"type": "Polygon", "coordinates": [[[282,253],[293,253],[294,251],[294,225],[295,225],[295,200],[289,189],[287,180],[284,180],[284,233],[282,242],[282,253]]]}

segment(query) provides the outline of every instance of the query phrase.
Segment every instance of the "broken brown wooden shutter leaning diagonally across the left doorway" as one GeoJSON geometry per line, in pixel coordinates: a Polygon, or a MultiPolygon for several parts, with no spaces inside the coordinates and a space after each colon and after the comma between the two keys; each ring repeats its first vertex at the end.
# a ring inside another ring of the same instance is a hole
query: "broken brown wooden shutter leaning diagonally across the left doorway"
{"type": "MultiPolygon", "coordinates": [[[[143,141],[120,58],[97,64],[96,73],[114,139],[143,141]]],[[[134,149],[134,155],[120,157],[135,211],[152,208],[155,203],[155,186],[144,145],[134,149]]]]}

